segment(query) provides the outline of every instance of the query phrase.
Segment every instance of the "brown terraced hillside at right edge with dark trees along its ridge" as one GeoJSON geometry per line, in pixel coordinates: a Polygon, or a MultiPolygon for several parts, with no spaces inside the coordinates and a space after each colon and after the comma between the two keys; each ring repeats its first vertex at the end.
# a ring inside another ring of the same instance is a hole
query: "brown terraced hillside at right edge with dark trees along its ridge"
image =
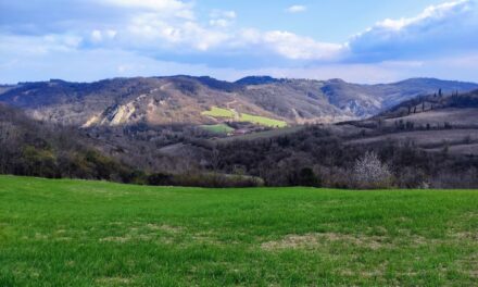
{"type": "Polygon", "coordinates": [[[352,140],[370,145],[385,140],[413,142],[427,151],[478,154],[478,90],[452,95],[433,93],[404,101],[379,115],[352,123],[380,130],[375,136],[352,140]]]}

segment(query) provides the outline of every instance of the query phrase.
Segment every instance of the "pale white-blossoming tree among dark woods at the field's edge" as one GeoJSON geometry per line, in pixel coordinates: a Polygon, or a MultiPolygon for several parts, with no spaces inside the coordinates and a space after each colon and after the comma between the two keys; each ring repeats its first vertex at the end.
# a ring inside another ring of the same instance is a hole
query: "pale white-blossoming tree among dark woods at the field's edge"
{"type": "Polygon", "coordinates": [[[367,151],[356,160],[353,179],[358,188],[388,188],[392,182],[392,173],[377,153],[367,151]]]}

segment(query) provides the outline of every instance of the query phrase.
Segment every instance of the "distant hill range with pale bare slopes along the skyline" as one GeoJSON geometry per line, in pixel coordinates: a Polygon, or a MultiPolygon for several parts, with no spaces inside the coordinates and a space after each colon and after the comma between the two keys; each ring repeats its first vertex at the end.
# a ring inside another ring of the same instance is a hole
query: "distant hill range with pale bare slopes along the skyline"
{"type": "Polygon", "coordinates": [[[272,77],[246,77],[236,83],[191,76],[115,78],[90,84],[53,79],[2,88],[0,101],[23,109],[37,120],[84,127],[251,121],[242,114],[266,118],[266,123],[303,124],[372,116],[440,88],[451,93],[476,89],[478,85],[428,78],[387,85],[272,77]],[[215,107],[237,116],[204,114],[215,107]]]}

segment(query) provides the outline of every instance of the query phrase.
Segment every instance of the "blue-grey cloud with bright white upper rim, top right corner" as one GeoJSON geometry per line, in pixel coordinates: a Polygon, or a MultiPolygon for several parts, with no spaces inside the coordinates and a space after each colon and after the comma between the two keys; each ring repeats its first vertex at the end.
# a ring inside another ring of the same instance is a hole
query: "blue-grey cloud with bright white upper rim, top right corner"
{"type": "Polygon", "coordinates": [[[478,49],[478,13],[471,0],[432,5],[415,17],[378,22],[349,42],[356,61],[383,61],[478,49]]]}

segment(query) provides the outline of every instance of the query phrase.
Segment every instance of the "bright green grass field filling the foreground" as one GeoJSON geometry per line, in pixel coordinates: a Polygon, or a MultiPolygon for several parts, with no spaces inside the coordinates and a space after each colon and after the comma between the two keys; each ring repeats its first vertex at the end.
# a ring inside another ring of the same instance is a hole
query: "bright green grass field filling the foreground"
{"type": "Polygon", "coordinates": [[[0,176],[0,286],[476,286],[478,191],[0,176]]]}

